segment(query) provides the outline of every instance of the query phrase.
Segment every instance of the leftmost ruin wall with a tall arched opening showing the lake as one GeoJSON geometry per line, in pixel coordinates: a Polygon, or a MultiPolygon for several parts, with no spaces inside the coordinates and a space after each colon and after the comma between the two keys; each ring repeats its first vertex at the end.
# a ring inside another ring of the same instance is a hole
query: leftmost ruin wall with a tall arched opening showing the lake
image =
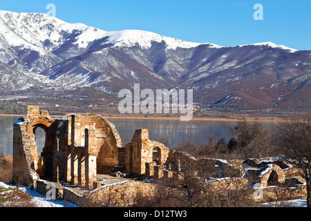
{"type": "Polygon", "coordinates": [[[29,174],[28,182],[35,184],[40,177],[53,177],[52,148],[55,146],[55,140],[51,140],[51,137],[55,135],[52,132],[55,130],[53,124],[55,125],[55,119],[51,118],[47,111],[40,111],[39,106],[28,106],[26,115],[14,122],[13,177],[17,177],[21,171],[21,169],[19,171],[15,169],[21,160],[27,163],[23,170],[29,174]],[[41,157],[37,153],[35,141],[37,128],[42,128],[46,133],[46,142],[41,157]]]}

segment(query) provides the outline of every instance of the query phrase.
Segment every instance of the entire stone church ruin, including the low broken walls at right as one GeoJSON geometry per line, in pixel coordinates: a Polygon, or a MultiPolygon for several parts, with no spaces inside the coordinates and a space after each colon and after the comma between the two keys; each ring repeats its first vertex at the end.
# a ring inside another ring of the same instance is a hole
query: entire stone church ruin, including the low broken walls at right
{"type": "MultiPolygon", "coordinates": [[[[37,186],[37,181],[42,184],[41,180],[49,180],[95,189],[99,187],[97,175],[112,171],[156,179],[180,179],[184,170],[180,160],[184,163],[195,161],[199,167],[211,165],[215,180],[225,173],[229,179],[248,186],[303,186],[301,171],[294,169],[288,162],[196,159],[149,140],[149,131],[145,128],[135,131],[131,142],[122,147],[115,126],[96,114],[69,114],[56,119],[50,117],[47,111],[40,111],[38,106],[28,106],[26,115],[14,123],[13,180],[21,174],[26,175],[23,184],[37,186]],[[38,127],[46,133],[41,155],[37,154],[35,141],[38,127]]],[[[218,179],[215,188],[223,186],[221,182],[227,180],[218,179]]],[[[302,191],[305,191],[303,187],[302,191]]],[[[72,194],[70,191],[68,193],[72,194]]]]}

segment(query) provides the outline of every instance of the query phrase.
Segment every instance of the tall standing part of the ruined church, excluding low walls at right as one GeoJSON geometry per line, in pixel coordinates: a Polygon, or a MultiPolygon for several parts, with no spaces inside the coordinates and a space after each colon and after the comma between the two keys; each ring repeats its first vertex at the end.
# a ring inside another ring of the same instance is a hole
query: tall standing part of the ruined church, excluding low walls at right
{"type": "Polygon", "coordinates": [[[144,174],[146,162],[162,165],[171,151],[149,140],[148,129],[135,131],[132,142],[122,147],[115,126],[96,114],[69,114],[55,119],[38,106],[28,106],[26,115],[13,126],[13,177],[26,175],[24,184],[35,185],[36,180],[45,179],[91,189],[97,174],[144,174]],[[41,155],[35,141],[37,128],[46,133],[41,155]]]}

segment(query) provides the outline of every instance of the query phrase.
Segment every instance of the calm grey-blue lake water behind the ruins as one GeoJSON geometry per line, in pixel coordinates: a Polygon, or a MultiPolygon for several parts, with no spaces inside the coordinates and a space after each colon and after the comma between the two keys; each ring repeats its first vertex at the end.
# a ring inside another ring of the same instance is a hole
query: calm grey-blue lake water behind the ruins
{"type": "MultiPolygon", "coordinates": [[[[18,118],[0,116],[0,153],[4,155],[12,155],[13,122],[18,118]]],[[[180,122],[169,119],[107,119],[115,124],[123,145],[129,142],[135,130],[140,128],[149,128],[150,140],[160,141],[160,138],[165,138],[173,147],[189,139],[196,144],[205,144],[208,141],[207,135],[214,136],[216,140],[225,137],[228,142],[232,138],[229,127],[236,126],[236,122],[232,121],[180,122]]],[[[45,141],[45,133],[41,128],[36,130],[36,139],[38,153],[41,153],[45,141]]]]}

